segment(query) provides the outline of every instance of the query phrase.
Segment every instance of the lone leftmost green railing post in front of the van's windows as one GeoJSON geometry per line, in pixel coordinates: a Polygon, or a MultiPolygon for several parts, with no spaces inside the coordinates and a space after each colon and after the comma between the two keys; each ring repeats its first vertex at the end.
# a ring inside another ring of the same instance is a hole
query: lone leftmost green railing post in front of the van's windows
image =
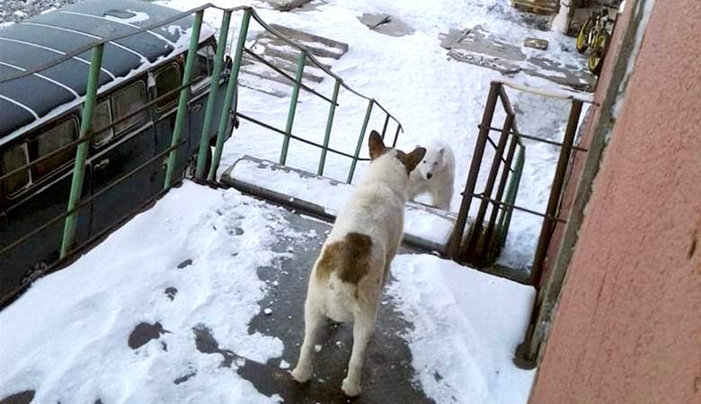
{"type": "MultiPolygon", "coordinates": [[[[90,61],[90,74],[88,75],[87,88],[85,89],[85,102],[83,105],[83,115],[80,122],[80,136],[84,140],[93,128],[93,110],[97,101],[97,86],[100,79],[100,68],[102,67],[102,50],[104,44],[96,45],[93,48],[93,57],[90,61]]],[[[83,179],[85,176],[85,158],[87,157],[90,142],[84,141],[79,144],[75,152],[75,165],[73,168],[73,179],[71,180],[71,193],[68,198],[67,210],[75,209],[83,193],[83,179]]],[[[66,257],[68,250],[75,241],[75,225],[78,221],[77,212],[67,215],[63,227],[63,237],[61,238],[61,258],[66,257]]]]}

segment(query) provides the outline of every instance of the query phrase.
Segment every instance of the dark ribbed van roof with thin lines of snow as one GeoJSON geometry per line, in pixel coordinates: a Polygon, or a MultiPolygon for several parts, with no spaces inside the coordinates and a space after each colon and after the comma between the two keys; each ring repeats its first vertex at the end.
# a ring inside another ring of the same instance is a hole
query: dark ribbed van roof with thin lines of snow
{"type": "MultiPolygon", "coordinates": [[[[166,21],[179,11],[135,0],[87,0],[40,14],[0,31],[0,79],[45,66],[79,48],[166,21]]],[[[146,71],[188,47],[188,15],[154,30],[107,42],[100,92],[146,71]]],[[[200,41],[214,34],[202,25],[200,41]]],[[[56,66],[0,83],[0,145],[84,101],[91,51],[56,66]]]]}

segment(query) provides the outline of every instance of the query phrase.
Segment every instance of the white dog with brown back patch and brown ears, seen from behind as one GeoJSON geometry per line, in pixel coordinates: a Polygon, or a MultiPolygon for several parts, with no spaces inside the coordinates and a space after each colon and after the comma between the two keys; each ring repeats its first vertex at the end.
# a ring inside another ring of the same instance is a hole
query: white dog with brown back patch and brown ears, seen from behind
{"type": "Polygon", "coordinates": [[[377,305],[389,267],[402,241],[409,174],[426,149],[405,154],[386,147],[377,131],[369,138],[370,162],[365,178],[336,217],[309,277],[305,303],[305,338],[292,376],[312,376],[316,333],[328,317],[353,321],[353,350],[342,391],[360,394],[365,349],[375,328],[377,305]]]}

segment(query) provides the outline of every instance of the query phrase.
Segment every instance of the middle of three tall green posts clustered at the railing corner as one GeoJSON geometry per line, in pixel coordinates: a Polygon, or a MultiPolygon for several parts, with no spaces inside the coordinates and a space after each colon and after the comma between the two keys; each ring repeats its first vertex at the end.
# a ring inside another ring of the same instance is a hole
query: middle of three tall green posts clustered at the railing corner
{"type": "Polygon", "coordinates": [[[226,38],[229,34],[229,23],[231,22],[231,10],[224,11],[224,18],[219,29],[219,40],[217,42],[217,54],[214,57],[214,71],[209,82],[209,98],[207,99],[207,110],[205,110],[204,122],[202,123],[202,134],[200,137],[200,151],[197,154],[197,169],[195,178],[202,180],[205,175],[205,165],[207,164],[207,149],[209,148],[209,127],[212,124],[212,112],[214,103],[217,101],[219,92],[219,77],[224,65],[224,52],[226,50],[226,38]]]}

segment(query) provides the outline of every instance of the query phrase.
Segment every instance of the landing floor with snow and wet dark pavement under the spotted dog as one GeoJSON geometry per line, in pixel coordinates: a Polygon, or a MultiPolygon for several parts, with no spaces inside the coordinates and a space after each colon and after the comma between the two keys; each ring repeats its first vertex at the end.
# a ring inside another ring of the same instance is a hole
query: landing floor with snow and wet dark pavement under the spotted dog
{"type": "MultiPolygon", "coordinates": [[[[0,400],[345,402],[348,325],[326,329],[310,385],[287,373],[328,229],[186,181],[0,312],[0,400]]],[[[358,402],[525,402],[534,373],[510,358],[534,290],[410,252],[393,264],[358,402]]]]}

